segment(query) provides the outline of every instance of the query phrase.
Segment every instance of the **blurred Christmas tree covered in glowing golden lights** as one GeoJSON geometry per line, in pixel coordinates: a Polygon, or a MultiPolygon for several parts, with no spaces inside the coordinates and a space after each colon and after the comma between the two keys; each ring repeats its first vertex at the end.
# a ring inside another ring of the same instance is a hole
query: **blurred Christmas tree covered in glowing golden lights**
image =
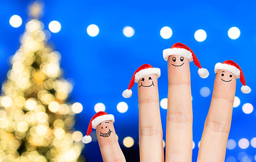
{"type": "Polygon", "coordinates": [[[74,114],[83,106],[66,103],[72,85],[62,78],[60,53],[45,41],[41,9],[39,3],[30,7],[31,19],[3,82],[0,161],[83,161],[83,134],[73,130],[74,114]]]}

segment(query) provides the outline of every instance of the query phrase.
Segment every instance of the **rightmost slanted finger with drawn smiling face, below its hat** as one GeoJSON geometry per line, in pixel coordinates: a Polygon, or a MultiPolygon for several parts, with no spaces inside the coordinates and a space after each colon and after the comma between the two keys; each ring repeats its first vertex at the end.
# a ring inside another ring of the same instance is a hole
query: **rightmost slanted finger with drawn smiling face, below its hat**
{"type": "Polygon", "coordinates": [[[205,128],[202,132],[198,161],[224,161],[232,118],[236,78],[227,70],[218,70],[205,128]],[[223,76],[221,76],[221,74],[223,76]]]}

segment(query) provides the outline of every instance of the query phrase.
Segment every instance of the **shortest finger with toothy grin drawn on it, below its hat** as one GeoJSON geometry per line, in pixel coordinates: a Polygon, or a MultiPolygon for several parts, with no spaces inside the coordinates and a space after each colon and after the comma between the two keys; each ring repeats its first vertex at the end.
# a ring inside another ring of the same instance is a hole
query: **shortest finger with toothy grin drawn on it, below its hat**
{"type": "Polygon", "coordinates": [[[119,146],[112,121],[103,121],[98,124],[96,134],[103,161],[125,161],[125,156],[119,146]]]}

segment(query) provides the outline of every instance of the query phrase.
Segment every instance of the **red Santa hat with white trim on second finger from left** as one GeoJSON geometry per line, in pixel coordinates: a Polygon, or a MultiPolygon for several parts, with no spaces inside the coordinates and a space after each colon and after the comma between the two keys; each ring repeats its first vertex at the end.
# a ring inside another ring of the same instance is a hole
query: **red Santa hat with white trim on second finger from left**
{"type": "Polygon", "coordinates": [[[134,82],[139,82],[140,78],[149,74],[156,74],[157,78],[159,78],[161,76],[161,71],[159,68],[153,68],[152,65],[149,64],[144,64],[140,66],[140,68],[137,68],[137,70],[133,74],[133,77],[131,77],[128,89],[123,91],[123,97],[131,97],[131,94],[133,93],[131,91],[131,88],[133,87],[134,82]]]}

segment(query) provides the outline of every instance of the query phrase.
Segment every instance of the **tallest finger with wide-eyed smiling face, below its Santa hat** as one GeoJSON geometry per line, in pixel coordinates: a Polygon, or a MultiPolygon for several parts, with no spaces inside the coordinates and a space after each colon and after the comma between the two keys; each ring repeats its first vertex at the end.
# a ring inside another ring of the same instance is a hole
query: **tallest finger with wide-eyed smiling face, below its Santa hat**
{"type": "Polygon", "coordinates": [[[168,59],[166,161],[192,161],[190,66],[188,59],[181,57],[168,59]]]}

